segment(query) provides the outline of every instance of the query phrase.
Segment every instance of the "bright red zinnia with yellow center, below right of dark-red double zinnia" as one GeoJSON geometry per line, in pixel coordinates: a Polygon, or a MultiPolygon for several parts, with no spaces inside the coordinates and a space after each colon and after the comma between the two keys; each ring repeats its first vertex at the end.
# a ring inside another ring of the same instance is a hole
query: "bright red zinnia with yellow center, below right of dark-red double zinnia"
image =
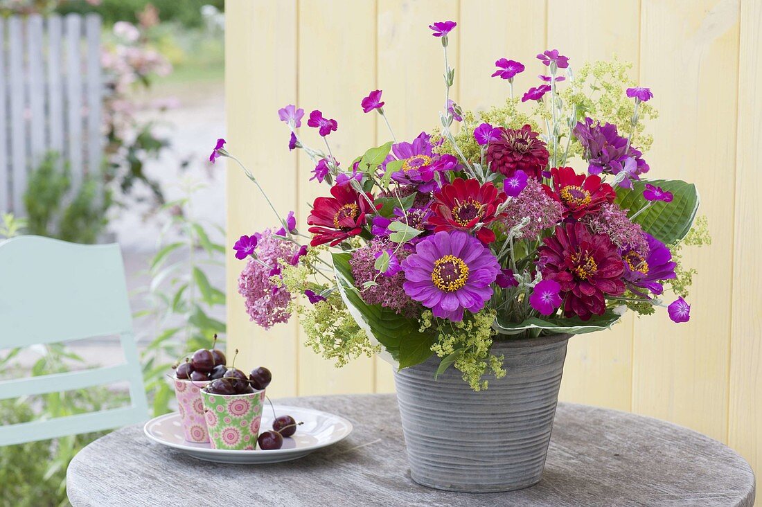
{"type": "Polygon", "coordinates": [[[613,203],[616,192],[597,175],[578,175],[571,167],[550,170],[555,198],[564,205],[564,217],[576,220],[595,213],[606,203],[613,203]]]}

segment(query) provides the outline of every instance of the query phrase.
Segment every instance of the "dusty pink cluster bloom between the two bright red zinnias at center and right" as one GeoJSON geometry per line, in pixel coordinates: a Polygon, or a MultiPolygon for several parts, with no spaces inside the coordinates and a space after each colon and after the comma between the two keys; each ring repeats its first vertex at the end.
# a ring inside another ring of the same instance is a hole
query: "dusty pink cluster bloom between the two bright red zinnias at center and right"
{"type": "Polygon", "coordinates": [[[563,205],[547,194],[542,183],[535,178],[529,178],[523,191],[513,197],[505,207],[503,222],[507,229],[512,229],[525,217],[529,217],[530,222],[523,226],[518,237],[519,239],[536,238],[543,229],[559,223],[563,211],[563,205]]]}

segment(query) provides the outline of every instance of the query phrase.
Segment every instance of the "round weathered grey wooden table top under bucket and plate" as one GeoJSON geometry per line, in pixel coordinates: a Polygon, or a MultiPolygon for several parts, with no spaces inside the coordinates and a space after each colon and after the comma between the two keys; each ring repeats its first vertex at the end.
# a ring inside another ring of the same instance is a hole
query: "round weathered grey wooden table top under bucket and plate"
{"type": "Polygon", "coordinates": [[[94,441],[72,460],[69,500],[75,507],[754,503],[754,474],[734,451],[686,428],[624,412],[560,403],[539,484],[466,494],[410,480],[393,395],[279,401],[344,416],[354,432],[301,460],[226,465],[163,448],[141,426],[130,426],[94,441]]]}

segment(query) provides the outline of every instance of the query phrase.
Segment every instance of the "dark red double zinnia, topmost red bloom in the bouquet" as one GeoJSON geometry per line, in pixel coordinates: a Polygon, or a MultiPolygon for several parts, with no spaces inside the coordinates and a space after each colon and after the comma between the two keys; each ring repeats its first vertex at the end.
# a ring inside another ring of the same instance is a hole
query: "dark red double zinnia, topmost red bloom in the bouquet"
{"type": "Polygon", "coordinates": [[[487,146],[487,162],[493,172],[511,178],[521,169],[531,178],[538,178],[548,165],[548,149],[539,139],[539,133],[524,125],[520,129],[498,127],[500,139],[487,146]]]}

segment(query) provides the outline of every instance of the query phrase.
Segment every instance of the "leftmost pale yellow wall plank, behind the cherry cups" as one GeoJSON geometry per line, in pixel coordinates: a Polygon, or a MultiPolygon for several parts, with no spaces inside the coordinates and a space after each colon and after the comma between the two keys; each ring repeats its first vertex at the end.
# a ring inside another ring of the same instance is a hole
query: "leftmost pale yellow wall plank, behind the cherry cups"
{"type": "MultiPolygon", "coordinates": [[[[272,201],[285,214],[296,208],[296,156],[287,148],[288,130],[278,122],[277,108],[296,99],[296,0],[283,2],[226,2],[226,116],[225,137],[230,152],[259,179],[272,201]]],[[[236,364],[264,365],[273,372],[270,396],[297,394],[299,371],[296,319],[264,331],[249,322],[238,277],[245,263],[234,257],[232,245],[277,221],[255,185],[235,162],[227,164],[227,322],[228,356],[235,348],[236,364]]]]}

